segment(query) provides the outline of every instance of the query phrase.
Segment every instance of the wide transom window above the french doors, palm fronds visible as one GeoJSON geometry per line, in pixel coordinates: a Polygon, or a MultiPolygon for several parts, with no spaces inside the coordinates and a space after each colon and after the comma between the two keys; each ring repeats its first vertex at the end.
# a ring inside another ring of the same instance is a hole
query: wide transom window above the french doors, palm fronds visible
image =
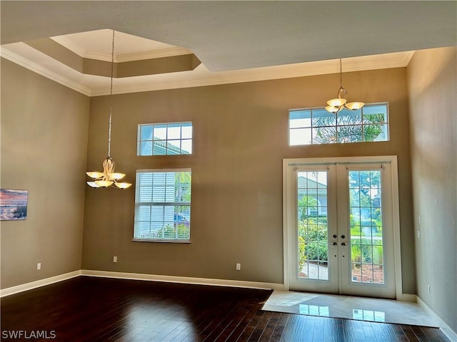
{"type": "Polygon", "coordinates": [[[343,109],[337,114],[325,108],[289,110],[289,145],[388,141],[388,104],[343,109]]]}

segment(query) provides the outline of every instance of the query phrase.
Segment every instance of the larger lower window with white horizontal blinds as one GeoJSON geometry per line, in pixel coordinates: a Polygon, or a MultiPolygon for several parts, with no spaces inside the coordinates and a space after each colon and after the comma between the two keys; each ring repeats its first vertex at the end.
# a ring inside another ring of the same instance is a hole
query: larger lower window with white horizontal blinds
{"type": "Polygon", "coordinates": [[[137,170],[135,241],[191,241],[191,170],[137,170]]]}

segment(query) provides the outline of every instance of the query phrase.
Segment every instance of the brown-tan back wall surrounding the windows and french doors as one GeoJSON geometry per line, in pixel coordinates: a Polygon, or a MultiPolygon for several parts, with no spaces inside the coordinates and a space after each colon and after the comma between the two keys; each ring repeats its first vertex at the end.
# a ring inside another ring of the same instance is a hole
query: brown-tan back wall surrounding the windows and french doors
{"type": "MultiPolygon", "coordinates": [[[[83,268],[282,283],[283,158],[398,155],[403,292],[416,293],[406,68],[345,73],[343,81],[349,100],[389,103],[391,141],[288,146],[288,109],[323,106],[338,74],[116,95],[118,172],[134,182],[138,169],[192,168],[192,243],[132,242],[134,186],[87,188],[83,268]],[[181,120],[194,125],[192,155],[136,156],[139,123],[181,120]]],[[[91,98],[91,170],[106,157],[108,106],[106,96],[91,98]]]]}

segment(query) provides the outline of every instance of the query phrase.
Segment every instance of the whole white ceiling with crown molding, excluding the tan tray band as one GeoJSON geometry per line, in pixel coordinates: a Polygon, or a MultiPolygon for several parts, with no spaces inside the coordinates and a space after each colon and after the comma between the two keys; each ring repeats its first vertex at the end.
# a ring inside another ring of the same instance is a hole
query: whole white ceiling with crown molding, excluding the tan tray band
{"type": "Polygon", "coordinates": [[[457,45],[456,1],[0,5],[1,56],[87,95],[105,94],[106,77],[78,73],[21,42],[54,37],[80,56],[109,60],[114,29],[118,61],[190,51],[202,61],[194,71],[116,79],[115,93],[336,73],[338,58],[343,72],[393,68],[408,64],[412,54],[405,51],[457,45]]]}

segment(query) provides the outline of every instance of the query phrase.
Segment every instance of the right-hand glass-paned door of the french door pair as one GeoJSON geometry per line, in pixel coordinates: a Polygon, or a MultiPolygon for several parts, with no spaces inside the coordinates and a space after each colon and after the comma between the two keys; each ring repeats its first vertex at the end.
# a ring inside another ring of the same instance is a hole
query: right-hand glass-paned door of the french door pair
{"type": "Polygon", "coordinates": [[[390,163],[338,165],[342,294],[395,298],[390,163]],[[343,260],[346,259],[346,260],[343,260]]]}

